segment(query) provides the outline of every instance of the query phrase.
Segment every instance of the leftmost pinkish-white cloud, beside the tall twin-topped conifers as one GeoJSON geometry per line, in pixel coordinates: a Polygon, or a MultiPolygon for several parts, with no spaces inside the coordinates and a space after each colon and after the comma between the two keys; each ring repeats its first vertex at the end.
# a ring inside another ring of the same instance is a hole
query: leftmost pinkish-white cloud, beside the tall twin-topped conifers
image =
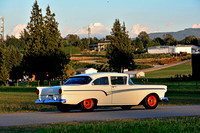
{"type": "Polygon", "coordinates": [[[20,38],[20,33],[26,28],[26,24],[18,24],[16,25],[10,33],[8,33],[9,36],[13,35],[16,38],[20,38]]]}

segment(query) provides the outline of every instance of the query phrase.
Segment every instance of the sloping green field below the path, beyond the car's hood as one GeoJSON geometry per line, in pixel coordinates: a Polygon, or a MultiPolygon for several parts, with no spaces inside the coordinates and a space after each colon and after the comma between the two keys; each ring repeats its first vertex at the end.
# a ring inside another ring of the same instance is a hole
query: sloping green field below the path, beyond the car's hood
{"type": "Polygon", "coordinates": [[[188,75],[192,74],[192,65],[191,62],[184,63],[181,65],[176,65],[172,67],[168,67],[161,70],[146,72],[146,78],[171,78],[175,77],[175,75],[188,75]]]}

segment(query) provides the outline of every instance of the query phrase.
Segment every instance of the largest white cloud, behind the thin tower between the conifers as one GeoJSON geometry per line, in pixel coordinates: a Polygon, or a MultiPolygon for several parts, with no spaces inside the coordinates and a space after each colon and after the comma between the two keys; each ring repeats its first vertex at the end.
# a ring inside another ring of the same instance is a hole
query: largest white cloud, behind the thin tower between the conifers
{"type": "MultiPolygon", "coordinates": [[[[102,38],[109,35],[111,29],[101,23],[92,23],[89,25],[91,29],[91,37],[102,38]]],[[[74,34],[79,35],[81,38],[88,37],[88,26],[78,29],[74,34]]]]}

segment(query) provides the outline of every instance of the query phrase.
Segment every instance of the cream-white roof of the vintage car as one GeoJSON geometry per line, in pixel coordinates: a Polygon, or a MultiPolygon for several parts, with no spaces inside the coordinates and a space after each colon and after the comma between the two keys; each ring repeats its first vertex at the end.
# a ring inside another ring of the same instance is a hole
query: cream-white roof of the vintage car
{"type": "Polygon", "coordinates": [[[100,72],[100,73],[79,74],[79,75],[74,75],[73,77],[79,77],[79,76],[89,76],[91,78],[98,78],[104,76],[128,76],[128,74],[117,73],[117,72],[100,72]]]}

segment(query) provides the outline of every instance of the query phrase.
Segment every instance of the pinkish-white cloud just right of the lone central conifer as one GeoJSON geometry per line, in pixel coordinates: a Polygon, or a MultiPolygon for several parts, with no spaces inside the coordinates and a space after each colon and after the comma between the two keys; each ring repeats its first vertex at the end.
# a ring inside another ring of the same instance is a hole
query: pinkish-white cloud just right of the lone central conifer
{"type": "Polygon", "coordinates": [[[132,38],[137,37],[141,31],[149,32],[151,28],[152,28],[152,26],[143,26],[140,24],[135,24],[132,26],[132,28],[129,32],[129,36],[132,38]]]}

